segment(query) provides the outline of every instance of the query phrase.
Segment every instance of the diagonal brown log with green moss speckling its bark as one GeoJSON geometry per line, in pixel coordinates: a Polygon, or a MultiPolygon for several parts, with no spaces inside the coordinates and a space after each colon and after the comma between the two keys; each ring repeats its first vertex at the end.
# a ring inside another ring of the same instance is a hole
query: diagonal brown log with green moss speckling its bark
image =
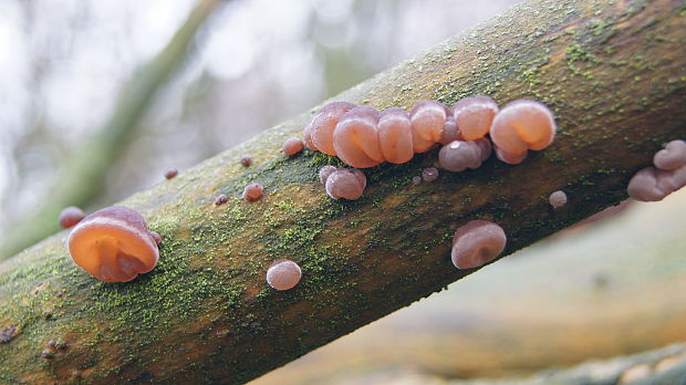
{"type": "Polygon", "coordinates": [[[65,232],[46,239],[0,264],[0,379],[246,382],[474,272],[449,260],[469,220],[498,222],[508,254],[617,204],[662,143],[686,136],[685,8],[527,1],[335,98],[406,108],[537,98],[559,137],[519,166],[491,158],[413,186],[434,150],[365,170],[357,201],[331,200],[316,173],[336,159],[280,153],[308,113],[126,199],[163,236],[158,267],[131,283],[79,270],[65,232]],[[267,196],[248,204],[240,192],[252,181],[267,196]],[[575,199],[553,211],[545,197],[557,189],[575,199]],[[219,194],[227,205],[212,204],[219,194]],[[281,258],[303,269],[285,292],[264,282],[281,258]],[[50,340],[66,347],[42,357],[50,340]]]}

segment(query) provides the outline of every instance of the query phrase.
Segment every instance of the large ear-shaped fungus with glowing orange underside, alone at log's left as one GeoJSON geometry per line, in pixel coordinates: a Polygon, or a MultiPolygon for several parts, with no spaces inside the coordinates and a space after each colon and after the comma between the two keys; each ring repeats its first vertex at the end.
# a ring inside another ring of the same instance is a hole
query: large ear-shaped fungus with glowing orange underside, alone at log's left
{"type": "Polygon", "coordinates": [[[135,210],[112,206],[85,217],[69,236],[79,267],[105,282],[127,282],[157,264],[157,243],[135,210]]]}

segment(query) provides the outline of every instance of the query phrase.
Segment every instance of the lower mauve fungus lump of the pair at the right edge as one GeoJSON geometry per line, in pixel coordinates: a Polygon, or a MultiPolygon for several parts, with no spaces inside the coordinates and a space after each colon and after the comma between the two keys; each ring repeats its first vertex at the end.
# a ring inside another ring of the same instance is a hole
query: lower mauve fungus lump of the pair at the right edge
{"type": "Polygon", "coordinates": [[[626,192],[636,200],[658,201],[684,186],[686,165],[669,171],[646,167],[631,178],[626,192]]]}

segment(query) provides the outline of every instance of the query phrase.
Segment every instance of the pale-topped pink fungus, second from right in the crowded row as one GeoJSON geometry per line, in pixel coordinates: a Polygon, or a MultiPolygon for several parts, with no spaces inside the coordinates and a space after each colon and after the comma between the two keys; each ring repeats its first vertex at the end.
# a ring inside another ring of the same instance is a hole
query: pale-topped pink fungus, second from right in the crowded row
{"type": "Polygon", "coordinates": [[[453,116],[465,141],[476,141],[488,134],[498,104],[488,96],[465,97],[453,107],[453,116]]]}

